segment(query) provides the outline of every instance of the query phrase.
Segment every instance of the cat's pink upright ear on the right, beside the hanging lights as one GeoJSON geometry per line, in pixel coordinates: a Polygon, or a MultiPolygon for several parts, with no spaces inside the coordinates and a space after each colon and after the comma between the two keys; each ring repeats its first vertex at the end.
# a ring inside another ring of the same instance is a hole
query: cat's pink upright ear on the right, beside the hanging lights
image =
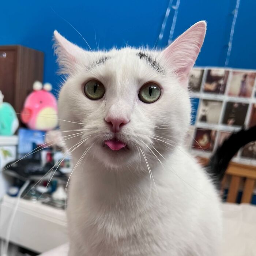
{"type": "Polygon", "coordinates": [[[174,40],[161,55],[167,61],[167,65],[178,75],[181,82],[188,79],[197,56],[202,47],[206,33],[206,22],[197,22],[177,39],[174,40]]]}

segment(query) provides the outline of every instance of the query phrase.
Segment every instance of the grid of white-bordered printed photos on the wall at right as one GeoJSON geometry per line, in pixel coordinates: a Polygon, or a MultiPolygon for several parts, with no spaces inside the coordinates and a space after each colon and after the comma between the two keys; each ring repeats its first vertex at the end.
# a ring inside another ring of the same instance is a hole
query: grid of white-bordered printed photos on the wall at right
{"type": "MultiPolygon", "coordinates": [[[[189,76],[192,105],[186,145],[209,157],[234,131],[256,125],[256,70],[193,68],[189,76]]],[[[233,161],[256,165],[256,142],[240,149],[233,161]]]]}

